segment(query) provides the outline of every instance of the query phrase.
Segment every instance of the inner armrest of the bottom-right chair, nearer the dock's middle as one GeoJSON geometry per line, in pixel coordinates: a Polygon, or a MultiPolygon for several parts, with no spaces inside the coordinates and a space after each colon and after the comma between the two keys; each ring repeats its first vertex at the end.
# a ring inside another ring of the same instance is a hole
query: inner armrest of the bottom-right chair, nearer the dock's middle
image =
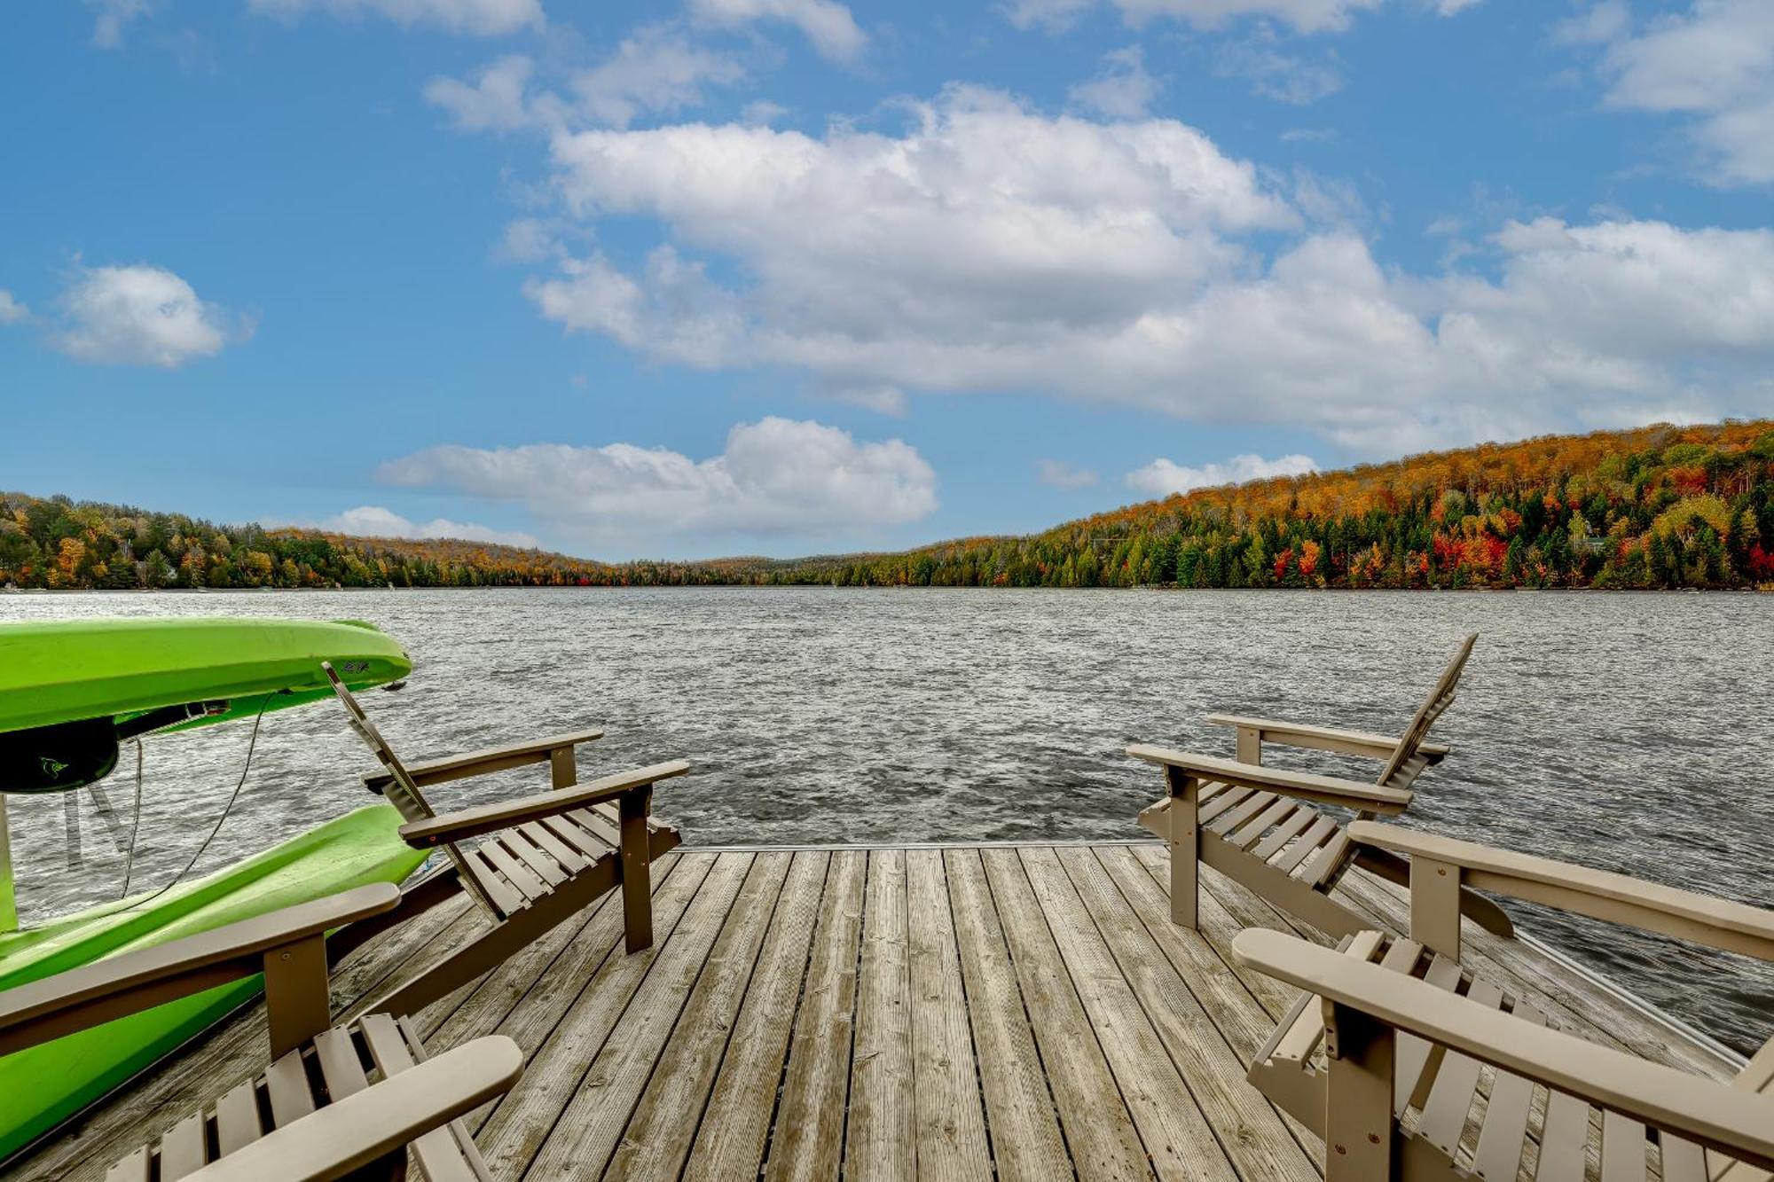
{"type": "Polygon", "coordinates": [[[1233,957],[1279,981],[1393,1029],[1460,1051],[1597,1107],[1774,1168],[1774,1097],[1535,1026],[1458,994],[1330,948],[1261,928],[1240,932],[1233,957]]]}

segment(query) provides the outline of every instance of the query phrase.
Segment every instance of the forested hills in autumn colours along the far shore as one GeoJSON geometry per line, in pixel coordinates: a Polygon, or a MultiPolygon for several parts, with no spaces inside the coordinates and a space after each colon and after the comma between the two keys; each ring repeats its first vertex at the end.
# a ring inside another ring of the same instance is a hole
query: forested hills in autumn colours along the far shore
{"type": "Polygon", "coordinates": [[[594,563],[0,493],[0,586],[1774,589],[1774,421],[1485,444],[903,554],[594,563]]]}

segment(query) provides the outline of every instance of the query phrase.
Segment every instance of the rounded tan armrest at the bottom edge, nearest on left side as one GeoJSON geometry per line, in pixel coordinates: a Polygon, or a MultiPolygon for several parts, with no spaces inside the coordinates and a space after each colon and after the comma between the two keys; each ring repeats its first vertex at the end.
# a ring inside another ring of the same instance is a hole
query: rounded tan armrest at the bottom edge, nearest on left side
{"type": "Polygon", "coordinates": [[[518,1044],[504,1035],[475,1038],[293,1120],[186,1178],[337,1178],[504,1095],[522,1074],[518,1044]]]}

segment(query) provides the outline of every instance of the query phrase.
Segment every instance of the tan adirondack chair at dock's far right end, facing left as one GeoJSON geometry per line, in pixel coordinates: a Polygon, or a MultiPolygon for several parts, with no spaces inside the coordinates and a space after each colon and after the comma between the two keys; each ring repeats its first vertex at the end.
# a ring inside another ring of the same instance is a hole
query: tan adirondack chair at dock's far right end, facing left
{"type": "MultiPolygon", "coordinates": [[[[1196,861],[1201,861],[1327,935],[1352,935],[1368,926],[1368,919],[1330,898],[1330,891],[1357,861],[1394,882],[1405,882],[1410,868],[1385,850],[1357,850],[1345,823],[1318,806],[1338,806],[1357,816],[1405,811],[1412,783],[1448,754],[1448,747],[1426,738],[1435,719],[1453,705],[1476,641],[1478,634],[1462,641],[1398,738],[1215,713],[1208,722],[1236,729],[1236,761],[1150,744],[1128,747],[1130,756],[1160,765],[1169,786],[1139,815],[1139,823],[1171,847],[1171,919],[1196,926],[1196,861]],[[1265,742],[1382,760],[1384,770],[1378,781],[1364,784],[1265,768],[1265,742]],[[1173,823],[1189,815],[1196,816],[1194,825],[1173,823]]],[[[1483,928],[1513,935],[1510,918],[1490,900],[1465,891],[1460,903],[1483,928]]]]}

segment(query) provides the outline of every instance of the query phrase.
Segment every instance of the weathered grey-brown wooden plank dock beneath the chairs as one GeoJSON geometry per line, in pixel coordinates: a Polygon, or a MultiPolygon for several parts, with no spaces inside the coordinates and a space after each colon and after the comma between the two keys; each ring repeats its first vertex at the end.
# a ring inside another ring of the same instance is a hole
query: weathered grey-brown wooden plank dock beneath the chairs
{"type": "MultiPolygon", "coordinates": [[[[1244,1079],[1293,997],[1229,953],[1240,928],[1295,925],[1203,868],[1201,932],[1173,926],[1166,859],[1155,843],[687,847],[653,868],[651,950],[623,953],[607,896],[419,1028],[433,1051],[495,1031],[523,1047],[523,1079],[470,1120],[513,1182],[1316,1178],[1316,1138],[1244,1079]]],[[[1354,871],[1339,891],[1401,928],[1393,887],[1354,871]]],[[[371,942],[335,969],[335,1008],[477,923],[458,900],[371,942]]],[[[1531,942],[1474,928],[1467,962],[1556,1026],[1735,1070],[1531,942]]],[[[9,1177],[99,1178],[264,1054],[254,1006],[9,1177]]]]}

